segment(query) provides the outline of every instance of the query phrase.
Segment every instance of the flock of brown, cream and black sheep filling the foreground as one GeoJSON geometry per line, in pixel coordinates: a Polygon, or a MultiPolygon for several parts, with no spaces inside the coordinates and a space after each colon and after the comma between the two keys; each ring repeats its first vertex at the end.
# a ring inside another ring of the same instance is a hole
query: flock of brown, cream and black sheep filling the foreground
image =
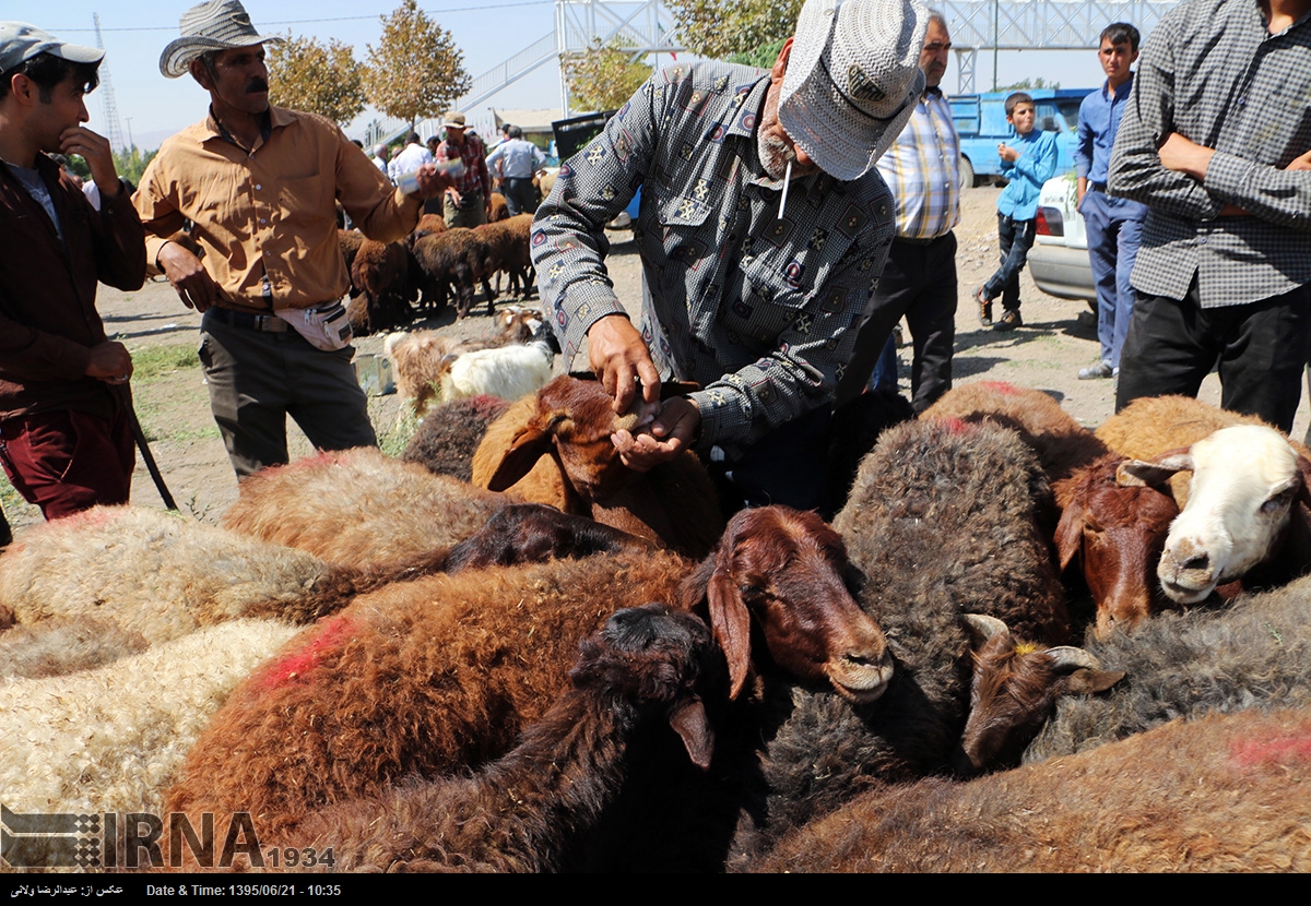
{"type": "Polygon", "coordinates": [[[1311,869],[1306,450],[1184,398],[1096,433],[995,382],[856,405],[831,524],[631,473],[635,416],[558,377],[266,470],[218,528],[34,529],[0,801],[246,813],[329,871],[1311,869]]]}

